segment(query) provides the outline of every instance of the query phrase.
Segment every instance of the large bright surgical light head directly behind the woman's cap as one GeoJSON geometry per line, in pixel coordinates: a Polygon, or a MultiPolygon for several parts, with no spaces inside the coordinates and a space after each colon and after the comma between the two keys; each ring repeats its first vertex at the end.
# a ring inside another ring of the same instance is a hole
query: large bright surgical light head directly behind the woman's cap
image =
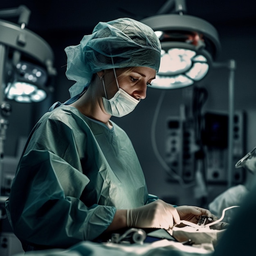
{"type": "Polygon", "coordinates": [[[162,46],[153,88],[182,88],[207,75],[220,51],[218,32],[211,24],[180,14],[155,15],[141,22],[155,31],[162,46]]]}

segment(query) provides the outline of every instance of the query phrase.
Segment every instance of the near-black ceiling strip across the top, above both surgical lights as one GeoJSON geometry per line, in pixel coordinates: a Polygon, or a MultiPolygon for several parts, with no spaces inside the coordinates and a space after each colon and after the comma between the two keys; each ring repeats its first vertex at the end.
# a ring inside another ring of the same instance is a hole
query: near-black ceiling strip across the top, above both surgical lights
{"type": "MultiPolygon", "coordinates": [[[[10,0],[0,1],[0,9],[26,5],[31,10],[28,28],[44,31],[91,31],[99,21],[121,17],[140,20],[157,14],[172,0],[10,0]]],[[[174,5],[174,4],[172,4],[174,5]]],[[[247,27],[256,24],[254,1],[187,0],[188,15],[197,16],[221,29],[223,26],[247,27]]],[[[171,13],[172,9],[165,9],[171,13]]]]}

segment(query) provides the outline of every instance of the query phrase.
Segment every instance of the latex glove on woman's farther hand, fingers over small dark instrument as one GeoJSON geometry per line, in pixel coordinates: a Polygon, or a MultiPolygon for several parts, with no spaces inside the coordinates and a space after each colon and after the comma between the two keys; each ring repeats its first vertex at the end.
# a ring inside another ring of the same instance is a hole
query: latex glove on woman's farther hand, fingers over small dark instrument
{"type": "Polygon", "coordinates": [[[182,206],[176,207],[176,209],[177,209],[177,212],[179,213],[180,220],[187,220],[195,224],[198,223],[198,217],[200,215],[206,215],[208,217],[211,217],[213,220],[218,219],[209,210],[196,207],[196,206],[182,205],[182,206]]]}

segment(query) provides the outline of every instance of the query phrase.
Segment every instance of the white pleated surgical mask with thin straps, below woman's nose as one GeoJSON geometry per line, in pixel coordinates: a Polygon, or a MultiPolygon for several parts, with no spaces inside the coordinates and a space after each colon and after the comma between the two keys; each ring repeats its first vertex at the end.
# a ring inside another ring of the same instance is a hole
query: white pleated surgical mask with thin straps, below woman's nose
{"type": "Polygon", "coordinates": [[[130,96],[130,94],[119,88],[115,68],[114,74],[118,91],[112,99],[107,99],[104,78],[103,76],[101,76],[101,81],[103,83],[104,92],[106,96],[106,98],[102,97],[103,107],[109,115],[112,115],[114,117],[123,117],[125,115],[128,115],[130,112],[132,112],[132,110],[135,109],[135,107],[139,103],[139,100],[133,98],[132,96],[130,96]]]}

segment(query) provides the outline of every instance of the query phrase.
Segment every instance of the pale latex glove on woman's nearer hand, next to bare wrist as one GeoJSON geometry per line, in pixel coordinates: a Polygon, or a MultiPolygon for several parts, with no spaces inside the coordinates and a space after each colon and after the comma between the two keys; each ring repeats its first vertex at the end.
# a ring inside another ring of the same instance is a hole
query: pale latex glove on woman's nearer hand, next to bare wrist
{"type": "Polygon", "coordinates": [[[173,222],[180,224],[176,208],[160,199],[127,210],[128,227],[169,229],[173,227],[173,222]]]}

